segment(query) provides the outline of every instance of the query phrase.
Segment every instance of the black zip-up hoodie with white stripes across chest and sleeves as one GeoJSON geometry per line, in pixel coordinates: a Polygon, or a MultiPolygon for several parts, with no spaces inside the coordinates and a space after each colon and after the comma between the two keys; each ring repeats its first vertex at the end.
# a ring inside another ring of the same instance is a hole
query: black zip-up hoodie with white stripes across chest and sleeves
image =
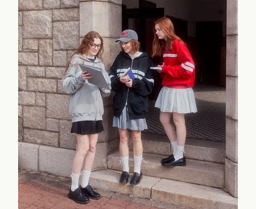
{"type": "Polygon", "coordinates": [[[129,119],[145,118],[149,108],[148,95],[154,86],[152,66],[153,61],[146,52],[133,60],[123,51],[117,55],[109,74],[112,91],[116,92],[113,98],[114,116],[119,118],[126,106],[129,119]],[[135,76],[131,88],[120,81],[120,76],[129,67],[135,76]]]}

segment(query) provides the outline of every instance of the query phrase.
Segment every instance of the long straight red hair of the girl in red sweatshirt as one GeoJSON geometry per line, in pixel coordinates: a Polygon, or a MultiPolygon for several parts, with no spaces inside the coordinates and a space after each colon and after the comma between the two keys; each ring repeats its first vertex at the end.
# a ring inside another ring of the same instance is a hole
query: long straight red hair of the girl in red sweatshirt
{"type": "Polygon", "coordinates": [[[167,17],[160,18],[155,22],[153,32],[155,37],[152,44],[152,49],[153,49],[152,57],[156,57],[156,56],[160,57],[163,54],[165,42],[166,42],[166,51],[168,53],[170,53],[172,49],[172,44],[174,40],[179,40],[179,42],[185,44],[181,40],[181,38],[175,34],[173,23],[167,17]],[[161,30],[167,35],[166,41],[164,39],[158,39],[155,33],[156,24],[158,24],[161,30]]]}

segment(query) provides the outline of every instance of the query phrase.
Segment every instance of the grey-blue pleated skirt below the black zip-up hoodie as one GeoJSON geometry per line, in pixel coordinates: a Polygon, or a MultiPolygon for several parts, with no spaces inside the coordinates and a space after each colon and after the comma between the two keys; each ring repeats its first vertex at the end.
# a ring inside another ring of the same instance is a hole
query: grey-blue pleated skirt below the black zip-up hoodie
{"type": "Polygon", "coordinates": [[[145,118],[131,119],[128,118],[128,113],[126,106],[123,108],[120,118],[114,116],[113,127],[118,127],[120,129],[129,129],[134,131],[143,131],[147,129],[147,123],[145,118]]]}

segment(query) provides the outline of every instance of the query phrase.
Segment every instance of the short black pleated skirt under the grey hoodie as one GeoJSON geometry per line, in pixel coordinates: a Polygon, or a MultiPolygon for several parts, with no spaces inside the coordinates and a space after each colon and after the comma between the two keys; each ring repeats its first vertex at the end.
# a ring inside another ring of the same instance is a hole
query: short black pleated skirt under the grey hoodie
{"type": "Polygon", "coordinates": [[[71,133],[77,134],[96,134],[103,131],[102,121],[78,121],[73,122],[71,133]]]}

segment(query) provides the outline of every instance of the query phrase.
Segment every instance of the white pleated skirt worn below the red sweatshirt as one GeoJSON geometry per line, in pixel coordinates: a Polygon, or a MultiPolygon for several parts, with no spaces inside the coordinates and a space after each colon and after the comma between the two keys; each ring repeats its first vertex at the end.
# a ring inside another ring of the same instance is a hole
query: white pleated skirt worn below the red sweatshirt
{"type": "Polygon", "coordinates": [[[155,102],[155,107],[160,108],[161,112],[197,112],[197,105],[192,88],[179,89],[163,86],[155,102]]]}

